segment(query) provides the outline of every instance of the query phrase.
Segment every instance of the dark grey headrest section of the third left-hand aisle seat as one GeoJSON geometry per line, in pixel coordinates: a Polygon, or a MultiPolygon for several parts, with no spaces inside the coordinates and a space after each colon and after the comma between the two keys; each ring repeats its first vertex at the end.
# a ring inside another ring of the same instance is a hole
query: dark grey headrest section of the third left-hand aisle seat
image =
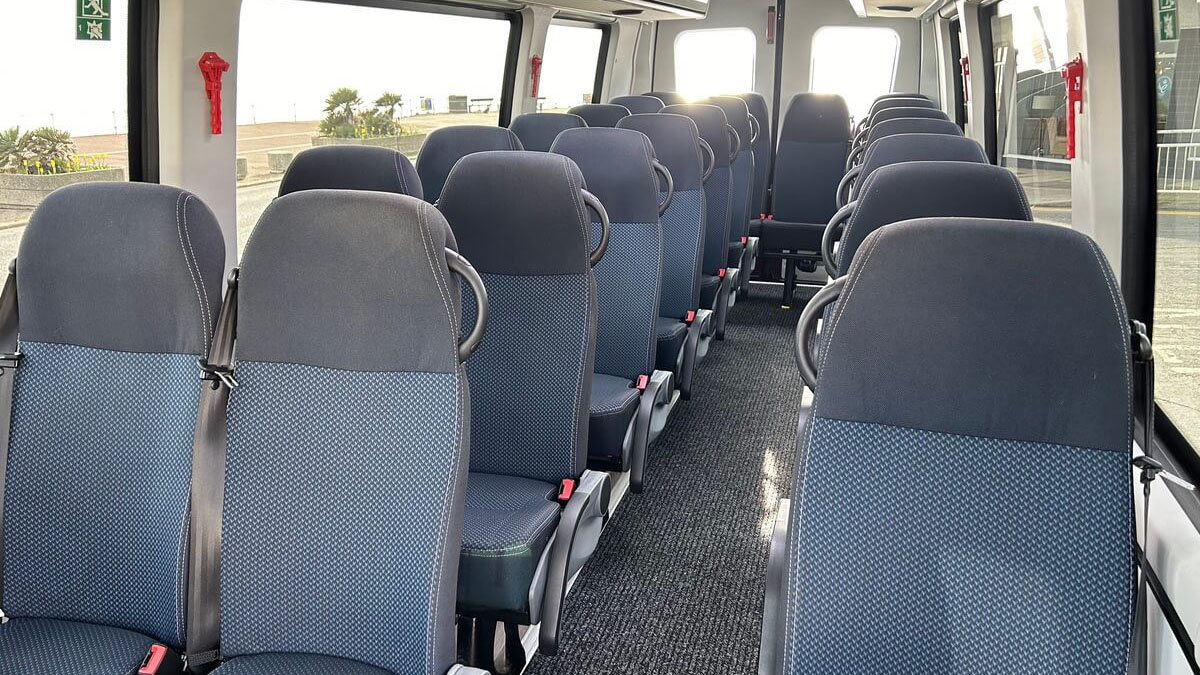
{"type": "Polygon", "coordinates": [[[659,177],[654,147],[629,129],[571,129],[558,135],[551,153],[570,157],[612,222],[659,222],[659,177]]]}

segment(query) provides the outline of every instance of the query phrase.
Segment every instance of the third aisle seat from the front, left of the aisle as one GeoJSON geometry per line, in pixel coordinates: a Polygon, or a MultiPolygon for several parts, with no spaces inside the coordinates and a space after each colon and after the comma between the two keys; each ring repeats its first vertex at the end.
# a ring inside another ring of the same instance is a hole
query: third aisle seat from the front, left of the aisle
{"type": "MultiPolygon", "coordinates": [[[[628,129],[564,131],[552,151],[578,165],[611,222],[607,250],[595,267],[596,360],[588,464],[628,471],[630,490],[640,492],[647,448],[662,431],[677,399],[671,372],[654,368],[662,274],[659,187],[660,180],[670,185],[670,179],[654,159],[650,141],[628,129]]],[[[601,235],[593,222],[594,246],[601,235]]]]}

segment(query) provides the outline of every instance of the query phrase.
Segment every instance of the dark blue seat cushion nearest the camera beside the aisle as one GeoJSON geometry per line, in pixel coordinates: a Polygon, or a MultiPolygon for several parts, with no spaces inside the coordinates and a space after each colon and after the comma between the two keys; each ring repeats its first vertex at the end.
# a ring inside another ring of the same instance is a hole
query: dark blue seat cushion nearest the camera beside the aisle
{"type": "Polygon", "coordinates": [[[538,561],[558,525],[558,486],[470,473],[458,562],[458,613],[523,617],[538,561]]]}

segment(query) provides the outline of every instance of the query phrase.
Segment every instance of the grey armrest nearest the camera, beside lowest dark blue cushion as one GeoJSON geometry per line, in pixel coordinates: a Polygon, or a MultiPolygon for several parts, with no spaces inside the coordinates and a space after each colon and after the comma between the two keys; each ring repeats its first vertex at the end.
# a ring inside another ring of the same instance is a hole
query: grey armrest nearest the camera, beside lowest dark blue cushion
{"type": "Polygon", "coordinates": [[[538,632],[540,653],[558,653],[566,589],[600,542],[600,532],[608,519],[611,496],[612,485],[607,473],[584,471],[575,492],[563,507],[551,544],[546,592],[541,601],[541,629],[538,632]]]}

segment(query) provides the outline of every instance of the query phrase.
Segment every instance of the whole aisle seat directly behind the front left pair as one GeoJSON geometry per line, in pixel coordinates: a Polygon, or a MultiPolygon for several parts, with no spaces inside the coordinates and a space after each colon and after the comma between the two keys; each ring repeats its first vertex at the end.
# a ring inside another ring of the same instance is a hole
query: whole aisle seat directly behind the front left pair
{"type": "MultiPolygon", "coordinates": [[[[460,646],[494,670],[497,622],[508,662],[524,664],[520,627],[541,625],[539,650],[558,650],[568,581],[599,540],[608,476],[586,471],[596,348],[593,249],[569,159],[479,153],[458,162],[440,210],[487,286],[487,339],[467,365],[470,474],[458,566],[460,646]],[[474,623],[474,628],[472,628],[474,623]]],[[[463,324],[476,316],[463,294],[463,324]]]]}

